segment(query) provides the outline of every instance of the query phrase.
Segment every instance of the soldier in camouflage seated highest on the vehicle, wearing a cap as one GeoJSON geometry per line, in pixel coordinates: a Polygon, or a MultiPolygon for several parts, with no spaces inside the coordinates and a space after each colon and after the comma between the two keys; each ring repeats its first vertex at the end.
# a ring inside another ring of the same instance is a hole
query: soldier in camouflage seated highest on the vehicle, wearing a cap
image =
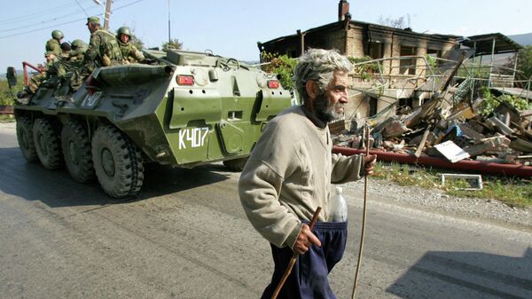
{"type": "Polygon", "coordinates": [[[90,31],[89,50],[85,52],[88,71],[92,72],[96,67],[123,64],[124,59],[116,37],[106,29],[100,28],[99,18],[88,18],[86,25],[90,31]]]}

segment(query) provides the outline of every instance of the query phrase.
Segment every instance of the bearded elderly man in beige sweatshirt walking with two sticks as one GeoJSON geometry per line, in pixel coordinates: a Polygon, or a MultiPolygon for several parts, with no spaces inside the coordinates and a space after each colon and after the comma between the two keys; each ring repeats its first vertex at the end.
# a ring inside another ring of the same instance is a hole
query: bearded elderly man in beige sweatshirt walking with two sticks
{"type": "Polygon", "coordinates": [[[338,51],[310,49],[295,67],[302,106],[271,120],[242,171],[239,194],[254,228],[270,241],[275,271],[262,298],[270,298],[293,252],[300,254],[278,298],[334,299],[327,279],[346,246],[347,223],[330,222],[331,183],[371,175],[375,156],[332,153],[328,122],[348,103],[351,63],[338,51]],[[314,229],[309,220],[323,212],[314,229]]]}

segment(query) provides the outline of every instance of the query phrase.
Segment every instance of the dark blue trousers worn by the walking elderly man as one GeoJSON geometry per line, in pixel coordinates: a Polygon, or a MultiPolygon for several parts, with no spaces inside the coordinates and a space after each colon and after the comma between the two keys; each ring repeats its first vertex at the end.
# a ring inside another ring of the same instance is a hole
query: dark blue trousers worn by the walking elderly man
{"type": "MultiPolygon", "coordinates": [[[[336,299],[327,276],[343,256],[348,240],[348,223],[318,222],[312,232],[321,241],[322,247],[313,245],[307,253],[298,257],[278,299],[336,299]]],[[[275,270],[262,299],[271,298],[293,255],[291,248],[270,246],[275,270]]]]}

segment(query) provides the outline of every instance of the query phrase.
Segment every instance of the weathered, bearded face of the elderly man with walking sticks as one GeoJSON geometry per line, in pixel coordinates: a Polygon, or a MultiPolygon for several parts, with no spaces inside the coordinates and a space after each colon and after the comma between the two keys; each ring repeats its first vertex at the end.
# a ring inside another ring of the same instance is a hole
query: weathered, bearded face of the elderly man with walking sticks
{"type": "Polygon", "coordinates": [[[339,120],[344,114],[344,105],[348,103],[348,73],[334,71],[332,81],[325,92],[316,98],[317,118],[323,122],[339,120]]]}

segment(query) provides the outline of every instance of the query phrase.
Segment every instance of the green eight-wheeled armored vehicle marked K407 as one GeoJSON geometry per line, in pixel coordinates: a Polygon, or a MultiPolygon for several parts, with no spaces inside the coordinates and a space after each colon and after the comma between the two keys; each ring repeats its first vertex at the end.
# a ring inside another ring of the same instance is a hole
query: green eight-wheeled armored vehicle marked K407
{"type": "Polygon", "coordinates": [[[275,75],[236,59],[176,50],[145,56],[150,65],[97,68],[77,90],[67,79],[43,83],[16,105],[25,159],[66,165],[80,183],[97,177],[121,198],[139,192],[145,162],[241,169],[265,123],[290,106],[275,75]]]}

